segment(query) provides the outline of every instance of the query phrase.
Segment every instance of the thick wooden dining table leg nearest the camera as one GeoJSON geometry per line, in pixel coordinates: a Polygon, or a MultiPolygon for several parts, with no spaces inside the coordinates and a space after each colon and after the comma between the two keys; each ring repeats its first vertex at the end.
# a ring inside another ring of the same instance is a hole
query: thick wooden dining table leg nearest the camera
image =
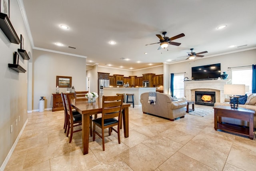
{"type": "Polygon", "coordinates": [[[82,152],[88,154],[89,150],[89,131],[90,131],[90,115],[82,115],[82,152]]]}

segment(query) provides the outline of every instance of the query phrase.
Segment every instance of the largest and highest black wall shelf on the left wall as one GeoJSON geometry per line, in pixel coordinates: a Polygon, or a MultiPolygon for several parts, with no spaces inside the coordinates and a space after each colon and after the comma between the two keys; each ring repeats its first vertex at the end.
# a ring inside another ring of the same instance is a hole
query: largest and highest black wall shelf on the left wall
{"type": "Polygon", "coordinates": [[[20,44],[20,39],[15,32],[9,17],[2,12],[0,12],[0,28],[11,43],[20,44]]]}

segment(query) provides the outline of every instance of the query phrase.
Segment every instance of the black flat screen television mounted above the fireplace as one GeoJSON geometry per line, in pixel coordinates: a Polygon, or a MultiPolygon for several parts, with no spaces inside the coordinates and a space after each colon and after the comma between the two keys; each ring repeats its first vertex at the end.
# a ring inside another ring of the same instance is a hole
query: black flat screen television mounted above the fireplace
{"type": "Polygon", "coordinates": [[[220,77],[220,64],[192,67],[192,80],[217,80],[220,77]]]}

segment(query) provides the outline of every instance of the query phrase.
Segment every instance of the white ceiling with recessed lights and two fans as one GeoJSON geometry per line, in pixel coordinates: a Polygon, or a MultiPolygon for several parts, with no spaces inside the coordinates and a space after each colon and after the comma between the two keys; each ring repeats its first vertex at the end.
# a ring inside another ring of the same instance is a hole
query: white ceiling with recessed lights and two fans
{"type": "Polygon", "coordinates": [[[208,51],[202,54],[204,58],[256,48],[256,0],[23,0],[23,3],[34,48],[85,56],[87,64],[92,65],[112,64],[114,68],[137,70],[150,67],[150,63],[157,66],[184,61],[190,48],[197,53],[208,51]],[[62,30],[61,24],[69,29],[62,30]],[[223,24],[227,27],[218,30],[223,24]],[[162,35],[163,31],[168,37],[184,33],[184,37],[174,40],[181,45],[169,45],[165,50],[157,50],[159,44],[145,46],[159,42],[156,34],[162,35]],[[111,40],[116,44],[110,45],[111,40]],[[64,46],[56,46],[56,42],[64,46]],[[231,45],[236,46],[228,48],[231,45]],[[181,56],[185,57],[178,58],[181,56]]]}

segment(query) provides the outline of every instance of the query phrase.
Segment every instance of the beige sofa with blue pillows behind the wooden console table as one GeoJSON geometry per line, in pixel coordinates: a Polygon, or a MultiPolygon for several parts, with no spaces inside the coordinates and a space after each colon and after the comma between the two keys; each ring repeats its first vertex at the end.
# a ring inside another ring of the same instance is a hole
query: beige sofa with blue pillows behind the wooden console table
{"type": "MultiPolygon", "coordinates": [[[[220,102],[214,103],[214,106],[217,106],[217,105],[230,106],[229,99],[225,99],[224,103],[220,103],[220,102]]],[[[244,105],[239,104],[238,108],[240,108],[240,107],[246,108],[246,109],[252,109],[252,110],[256,111],[256,93],[252,93],[252,94],[248,95],[246,103],[244,105]]],[[[256,128],[256,113],[254,113],[253,120],[254,120],[254,127],[256,128]]],[[[226,123],[236,124],[236,125],[249,126],[247,121],[241,121],[239,119],[233,119],[233,118],[229,118],[229,117],[222,117],[222,121],[226,122],[226,123]]]]}

